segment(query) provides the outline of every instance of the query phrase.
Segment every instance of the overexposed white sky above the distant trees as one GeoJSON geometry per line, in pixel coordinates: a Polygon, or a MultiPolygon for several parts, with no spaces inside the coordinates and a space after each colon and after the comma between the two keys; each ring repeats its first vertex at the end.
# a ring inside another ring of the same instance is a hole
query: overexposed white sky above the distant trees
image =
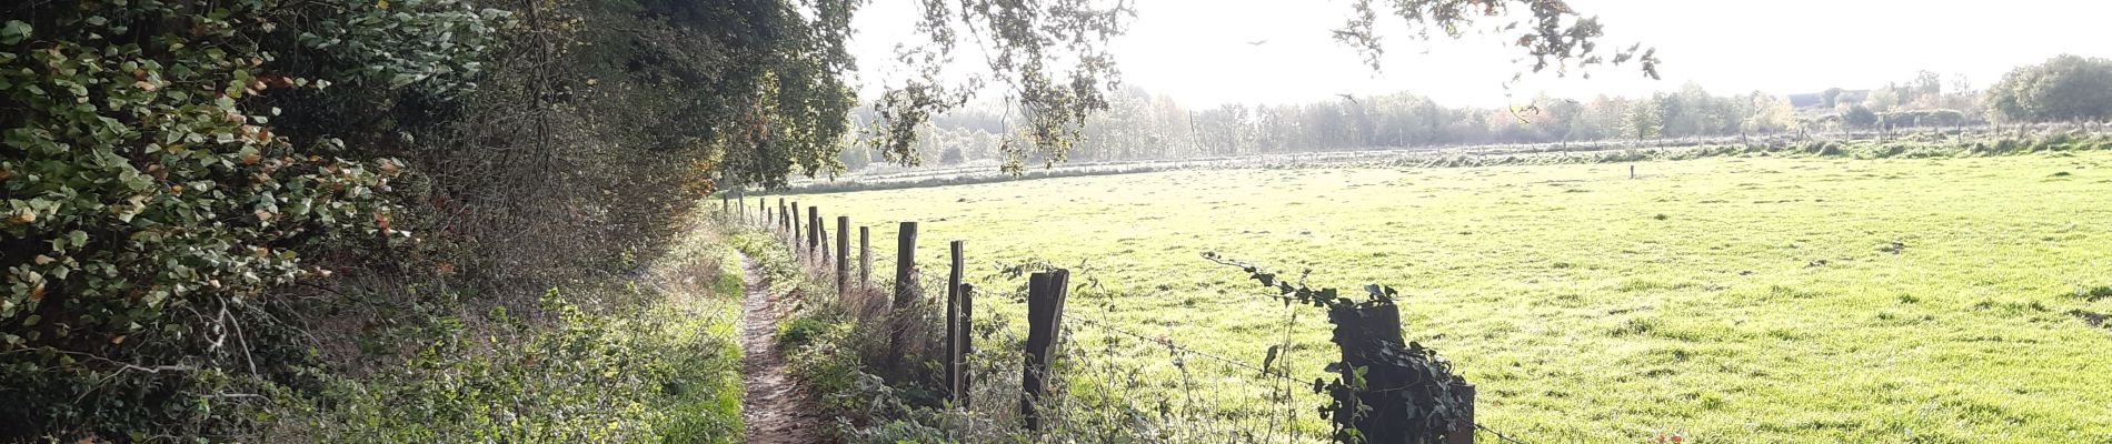
{"type": "MultiPolygon", "coordinates": [[[[1525,69],[1493,40],[1413,42],[1398,17],[1379,8],[1388,42],[1383,72],[1371,72],[1331,38],[1350,17],[1347,0],[1130,0],[1136,19],[1115,40],[1126,84],[1172,95],[1189,107],[1299,103],[1339,93],[1413,90],[1447,105],[1502,105],[1502,82],[1525,69]],[[1265,44],[1246,44],[1267,40],[1265,44]],[[1426,53],[1428,51],[1428,53],[1426,53]]],[[[1383,2],[1381,2],[1383,4],[1383,2]]],[[[1918,69],[1964,74],[1985,86],[2023,63],[2061,53],[2112,57],[2101,23],[2108,0],[1571,0],[1607,27],[1603,48],[1656,46],[1664,80],[1633,65],[1601,65],[1590,80],[1527,76],[1512,101],[1538,90],[1557,97],[1641,95],[1700,82],[1711,93],[1816,93],[1869,88],[1918,69]]],[[[853,53],[866,97],[898,78],[893,46],[910,42],[912,0],[874,0],[855,19],[853,53]]],[[[1611,53],[1607,53],[1611,55],[1611,53]]],[[[969,44],[961,69],[980,67],[969,44]]]]}

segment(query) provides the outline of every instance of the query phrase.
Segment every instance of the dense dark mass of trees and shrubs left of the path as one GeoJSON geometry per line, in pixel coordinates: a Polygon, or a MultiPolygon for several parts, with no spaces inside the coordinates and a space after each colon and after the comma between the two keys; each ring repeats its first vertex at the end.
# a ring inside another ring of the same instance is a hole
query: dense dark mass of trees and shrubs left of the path
{"type": "Polygon", "coordinates": [[[851,6],[0,6],[0,440],[239,440],[471,307],[549,328],[543,288],[642,271],[712,173],[832,168],[851,6]]]}

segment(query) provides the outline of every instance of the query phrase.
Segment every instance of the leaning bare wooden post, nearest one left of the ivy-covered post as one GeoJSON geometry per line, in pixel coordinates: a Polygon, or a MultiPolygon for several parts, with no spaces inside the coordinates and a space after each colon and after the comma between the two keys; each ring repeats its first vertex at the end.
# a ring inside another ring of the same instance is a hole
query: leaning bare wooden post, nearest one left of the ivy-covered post
{"type": "Polygon", "coordinates": [[[1020,417],[1029,431],[1041,431],[1035,410],[1050,393],[1050,362],[1062,335],[1062,299],[1071,288],[1071,271],[1054,269],[1026,278],[1026,364],[1020,370],[1020,417]]]}

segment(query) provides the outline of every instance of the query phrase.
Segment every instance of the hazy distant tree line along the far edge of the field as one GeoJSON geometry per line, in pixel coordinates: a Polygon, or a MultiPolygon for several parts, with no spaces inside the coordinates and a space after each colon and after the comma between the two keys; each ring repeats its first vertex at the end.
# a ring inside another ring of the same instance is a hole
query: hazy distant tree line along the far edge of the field
{"type": "MultiPolygon", "coordinates": [[[[2019,67],[1987,90],[1964,76],[1918,72],[1882,88],[1829,88],[1793,97],[1713,95],[1700,84],[1649,97],[1588,101],[1533,97],[1514,107],[1455,107],[1413,93],[1341,97],[1288,105],[1227,103],[1185,107],[1172,97],[1128,86],[1086,120],[1071,160],[1151,160],[1195,156],[1295,154],[1371,147],[1487,143],[1656,141],[1827,130],[1945,128],[1987,122],[2108,120],[2112,61],[2055,57],[2019,67]],[[1797,103],[1804,107],[1797,107],[1797,103]]],[[[870,122],[870,109],[853,120],[870,122]]],[[[1020,122],[1001,103],[955,109],[919,128],[925,164],[999,158],[1020,122]]],[[[845,149],[845,166],[876,156],[845,149]]]]}

